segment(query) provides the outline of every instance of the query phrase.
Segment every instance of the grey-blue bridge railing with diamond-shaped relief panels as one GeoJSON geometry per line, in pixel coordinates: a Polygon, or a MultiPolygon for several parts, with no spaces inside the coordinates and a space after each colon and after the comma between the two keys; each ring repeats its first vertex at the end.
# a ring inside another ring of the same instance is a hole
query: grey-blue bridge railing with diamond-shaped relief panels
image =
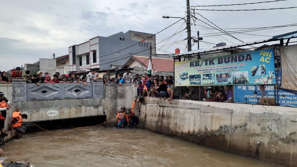
{"type": "Polygon", "coordinates": [[[105,84],[97,80],[84,85],[82,83],[27,84],[12,82],[13,101],[53,100],[72,98],[104,98],[105,84]]]}

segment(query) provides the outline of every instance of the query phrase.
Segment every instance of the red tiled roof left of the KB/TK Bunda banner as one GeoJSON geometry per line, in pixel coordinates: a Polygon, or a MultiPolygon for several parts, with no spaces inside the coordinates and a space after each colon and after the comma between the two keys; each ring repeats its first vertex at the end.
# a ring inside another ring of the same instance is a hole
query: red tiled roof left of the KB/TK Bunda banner
{"type": "MultiPolygon", "coordinates": [[[[133,56],[136,60],[140,63],[145,65],[146,67],[149,66],[149,57],[145,56],[133,56]]],[[[153,57],[152,69],[156,69],[159,72],[173,72],[174,71],[174,61],[173,59],[169,58],[155,58],[153,57]]]]}

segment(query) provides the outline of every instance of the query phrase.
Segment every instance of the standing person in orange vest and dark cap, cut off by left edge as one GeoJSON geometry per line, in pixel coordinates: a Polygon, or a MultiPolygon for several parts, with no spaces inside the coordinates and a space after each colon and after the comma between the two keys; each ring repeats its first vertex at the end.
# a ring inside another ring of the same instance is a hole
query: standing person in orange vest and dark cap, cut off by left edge
{"type": "Polygon", "coordinates": [[[0,92],[0,112],[1,112],[1,118],[0,118],[0,126],[1,126],[1,134],[0,137],[4,138],[7,136],[7,133],[4,133],[4,121],[6,118],[6,110],[10,109],[11,103],[7,100],[7,98],[4,96],[3,92],[0,92]],[[3,119],[4,118],[4,119],[3,119]]]}

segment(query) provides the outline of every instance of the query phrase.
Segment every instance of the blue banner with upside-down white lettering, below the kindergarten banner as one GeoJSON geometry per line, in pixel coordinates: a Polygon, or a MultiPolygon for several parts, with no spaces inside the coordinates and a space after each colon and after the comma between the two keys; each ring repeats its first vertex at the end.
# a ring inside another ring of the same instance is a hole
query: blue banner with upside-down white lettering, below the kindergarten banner
{"type": "MultiPolygon", "coordinates": [[[[297,106],[297,94],[280,90],[281,71],[276,71],[275,85],[234,85],[234,102],[261,104],[261,98],[275,100],[280,106],[297,106]],[[274,96],[274,95],[277,96],[274,96]]],[[[268,101],[269,103],[271,101],[268,101]]],[[[268,104],[269,105],[269,104],[268,104]]]]}

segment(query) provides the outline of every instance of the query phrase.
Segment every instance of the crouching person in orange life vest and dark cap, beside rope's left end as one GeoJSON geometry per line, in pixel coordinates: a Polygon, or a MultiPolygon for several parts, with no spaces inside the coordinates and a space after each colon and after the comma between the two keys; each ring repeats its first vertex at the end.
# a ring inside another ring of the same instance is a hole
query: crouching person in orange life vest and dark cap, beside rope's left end
{"type": "Polygon", "coordinates": [[[17,108],[16,112],[12,113],[12,129],[19,132],[18,139],[22,138],[23,134],[27,130],[25,126],[22,125],[23,118],[27,119],[27,114],[21,114],[20,109],[17,108]]]}

